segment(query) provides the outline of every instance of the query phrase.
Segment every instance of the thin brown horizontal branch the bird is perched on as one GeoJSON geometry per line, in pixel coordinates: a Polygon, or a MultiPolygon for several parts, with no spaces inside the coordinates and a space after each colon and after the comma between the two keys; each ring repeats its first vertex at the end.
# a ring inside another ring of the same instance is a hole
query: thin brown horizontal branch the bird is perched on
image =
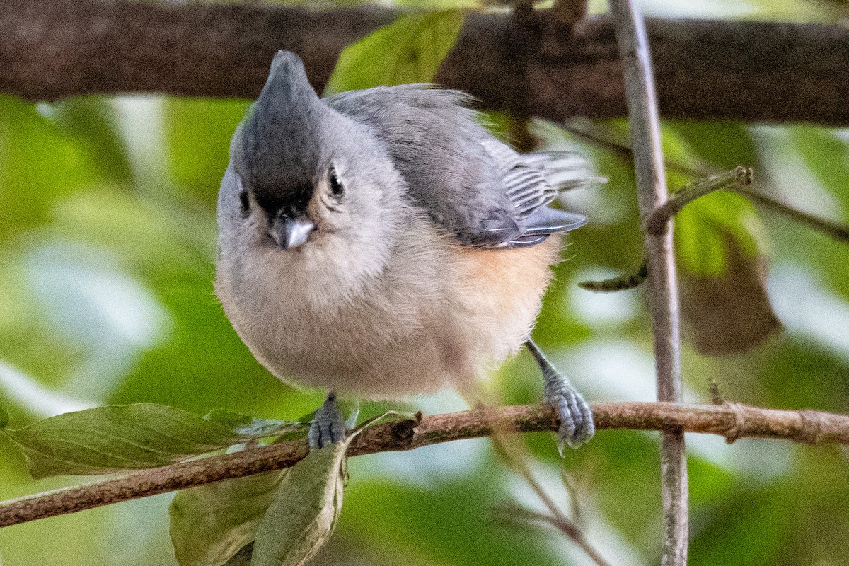
{"type": "MultiPolygon", "coordinates": [[[[745,436],[809,444],[849,445],[849,415],[814,411],[778,411],[736,403],[678,406],[674,403],[598,403],[597,429],[661,430],[720,434],[728,442],[745,436]]],[[[489,436],[493,431],[545,432],[559,427],[548,406],[507,406],[453,412],[419,420],[376,424],[351,442],[349,456],[402,451],[452,440],[489,436]]],[[[280,442],[222,456],[179,462],[107,479],[90,485],[53,490],[0,503],[0,527],[38,518],[154,496],[272,470],[291,468],[309,451],[306,440],[280,442]]]]}

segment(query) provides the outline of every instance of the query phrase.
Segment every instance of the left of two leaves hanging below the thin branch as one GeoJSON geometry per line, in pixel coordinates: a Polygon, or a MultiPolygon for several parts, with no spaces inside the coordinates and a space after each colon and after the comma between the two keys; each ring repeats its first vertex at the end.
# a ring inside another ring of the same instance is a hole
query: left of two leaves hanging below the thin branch
{"type": "MultiPolygon", "coordinates": [[[[171,543],[180,566],[238,561],[290,470],[228,479],[177,492],[171,502],[171,543]]],[[[250,562],[250,550],[248,560],[250,562]]],[[[237,562],[233,562],[237,563],[237,562]]]]}

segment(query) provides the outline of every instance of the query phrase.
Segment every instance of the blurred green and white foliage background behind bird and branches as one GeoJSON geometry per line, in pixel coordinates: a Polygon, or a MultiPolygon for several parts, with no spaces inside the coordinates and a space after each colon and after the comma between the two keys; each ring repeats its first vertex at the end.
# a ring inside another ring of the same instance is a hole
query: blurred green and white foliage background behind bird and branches
{"type": "MultiPolygon", "coordinates": [[[[644,6],[662,17],[846,18],[845,3],[653,0],[644,6]]],[[[216,193],[229,137],[247,105],[155,96],[25,104],[0,96],[0,406],[14,427],[137,401],[277,418],[300,417],[322,401],[322,391],[290,389],[267,373],[212,293],[216,193]]],[[[596,126],[622,132],[620,121],[596,126]]],[[[650,401],[655,386],[642,292],[601,295],[576,287],[583,279],[633,271],[640,261],[630,165],[556,126],[532,128],[547,148],[581,149],[610,179],[565,195],[565,205],[582,210],[590,223],[571,237],[569,261],[557,269],[535,335],[589,400],[650,401]]],[[[678,165],[753,166],[764,191],[849,221],[849,131],[675,122],[666,123],[665,135],[667,159],[678,165]]],[[[689,180],[670,176],[672,188],[689,180]]],[[[751,212],[731,196],[691,211],[678,238],[700,219],[710,224],[711,215],[732,209],[751,213],[734,221],[747,223],[768,257],[767,292],[784,332],[737,356],[699,356],[685,344],[685,400],[709,401],[708,380],[715,378],[734,401],[849,411],[849,249],[768,210],[751,212]]],[[[704,253],[696,245],[690,256],[704,253]]],[[[492,384],[506,403],[541,399],[541,379],[526,355],[510,361],[492,384]]],[[[409,406],[465,407],[450,392],[409,406]]],[[[549,434],[526,440],[536,456],[533,469],[566,511],[571,502],[560,470],[568,471],[585,532],[610,563],[658,563],[656,434],[600,431],[563,461],[549,434]]],[[[727,446],[720,437],[694,434],[687,440],[691,564],[849,563],[845,447],[767,440],[727,446]]],[[[314,563],[590,563],[554,530],[509,521],[506,503],[542,507],[486,440],[357,457],[350,465],[339,529],[314,563]]],[[[3,499],[81,480],[29,479],[5,440],[0,474],[3,499]]],[[[0,558],[7,566],[175,564],[170,498],[0,530],[0,558]]]]}

